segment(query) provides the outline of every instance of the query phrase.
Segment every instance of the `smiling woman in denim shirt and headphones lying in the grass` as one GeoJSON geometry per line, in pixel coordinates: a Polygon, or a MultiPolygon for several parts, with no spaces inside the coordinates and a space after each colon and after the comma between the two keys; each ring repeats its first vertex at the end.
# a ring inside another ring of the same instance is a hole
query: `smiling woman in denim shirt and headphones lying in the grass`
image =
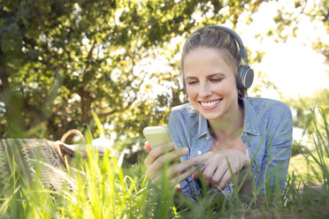
{"type": "Polygon", "coordinates": [[[172,166],[165,176],[179,179],[175,183],[191,199],[203,194],[203,183],[218,194],[231,196],[233,178],[246,170],[251,170],[247,180],[235,181],[241,194],[251,191],[253,181],[263,192],[267,183],[272,189],[285,187],[292,145],[291,111],[282,102],[246,97],[254,73],[240,37],[224,26],[195,31],[185,42],[180,69],[190,102],[172,108],[169,117],[176,149],[171,147],[167,155],[161,152],[172,143],[152,149],[145,160],[147,176],[158,178],[166,157],[172,166]],[[179,156],[181,162],[173,163],[179,156]],[[186,172],[195,166],[201,175],[187,177],[186,172]]]}

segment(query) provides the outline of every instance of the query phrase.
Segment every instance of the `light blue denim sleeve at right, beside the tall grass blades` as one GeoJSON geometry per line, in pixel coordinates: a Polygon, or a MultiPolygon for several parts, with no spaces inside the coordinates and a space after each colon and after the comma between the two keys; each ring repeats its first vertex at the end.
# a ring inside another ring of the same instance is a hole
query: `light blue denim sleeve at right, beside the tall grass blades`
{"type": "Polygon", "coordinates": [[[264,186],[276,190],[276,186],[284,188],[286,185],[293,142],[293,120],[291,111],[287,106],[272,107],[271,114],[272,119],[268,127],[262,175],[265,182],[264,186]]]}

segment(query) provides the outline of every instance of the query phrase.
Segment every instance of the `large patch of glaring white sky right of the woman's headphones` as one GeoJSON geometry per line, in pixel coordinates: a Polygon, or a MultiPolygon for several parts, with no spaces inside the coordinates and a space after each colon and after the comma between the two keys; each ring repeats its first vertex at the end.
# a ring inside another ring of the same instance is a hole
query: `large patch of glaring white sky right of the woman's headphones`
{"type": "MultiPolygon", "coordinates": [[[[269,28],[275,29],[272,18],[277,15],[279,4],[284,4],[287,11],[294,11],[294,8],[289,9],[293,7],[293,1],[290,5],[287,1],[264,3],[252,16],[253,22],[248,27],[241,25],[237,28],[246,47],[265,53],[262,62],[252,64],[252,68],[266,73],[285,96],[296,98],[311,95],[318,89],[329,87],[329,66],[324,64],[325,57],[311,48],[311,42],[316,42],[318,37],[322,42],[329,43],[329,34],[322,22],[310,21],[308,17],[299,15],[296,11],[298,19],[301,20],[297,37],[290,37],[287,42],[279,43],[275,42],[274,37],[265,36],[262,42],[255,38],[255,34],[265,34],[269,28]],[[249,31],[246,32],[246,29],[249,31]]],[[[262,96],[279,99],[272,91],[264,91],[262,96]]]]}

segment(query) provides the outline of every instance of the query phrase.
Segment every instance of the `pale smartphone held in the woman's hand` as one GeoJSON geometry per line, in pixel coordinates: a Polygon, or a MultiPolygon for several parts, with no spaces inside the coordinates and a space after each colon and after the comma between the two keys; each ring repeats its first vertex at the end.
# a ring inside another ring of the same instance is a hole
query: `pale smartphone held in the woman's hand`
{"type": "Polygon", "coordinates": [[[169,129],[165,126],[149,126],[143,129],[146,140],[149,141],[151,148],[171,142],[169,129]]]}

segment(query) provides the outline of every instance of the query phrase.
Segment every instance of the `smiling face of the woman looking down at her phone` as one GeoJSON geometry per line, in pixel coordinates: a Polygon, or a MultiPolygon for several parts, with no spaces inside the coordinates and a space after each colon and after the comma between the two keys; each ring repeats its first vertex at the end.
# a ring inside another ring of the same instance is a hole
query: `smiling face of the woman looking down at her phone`
{"type": "Polygon", "coordinates": [[[189,51],[183,67],[188,98],[203,117],[225,119],[238,112],[235,75],[218,49],[189,51]]]}

